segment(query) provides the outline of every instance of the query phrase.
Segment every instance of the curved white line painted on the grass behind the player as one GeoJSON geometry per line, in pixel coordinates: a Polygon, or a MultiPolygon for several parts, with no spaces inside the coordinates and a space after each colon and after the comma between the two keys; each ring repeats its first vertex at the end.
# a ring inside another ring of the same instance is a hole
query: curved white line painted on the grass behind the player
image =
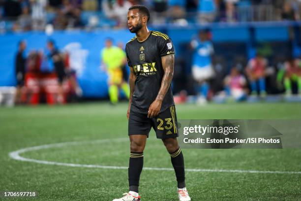
{"type": "MultiPolygon", "coordinates": [[[[48,149],[54,147],[62,147],[68,145],[82,145],[85,143],[94,144],[94,143],[106,143],[106,142],[122,142],[126,141],[128,138],[117,138],[117,139],[100,139],[93,141],[74,141],[74,142],[60,142],[55,144],[45,144],[40,146],[27,147],[24,149],[19,149],[13,152],[10,152],[8,155],[10,158],[17,161],[32,162],[37,164],[45,165],[56,165],[56,166],[67,166],[67,167],[89,167],[89,168],[102,168],[102,169],[127,169],[128,167],[123,166],[101,166],[101,165],[86,165],[86,164],[72,164],[72,163],[60,163],[54,161],[43,161],[30,159],[20,156],[20,154],[36,151],[41,149],[48,149]]],[[[165,167],[143,167],[144,170],[165,170],[165,171],[174,171],[174,168],[165,168],[165,167]]],[[[241,170],[241,169],[189,169],[186,168],[187,172],[232,172],[232,173],[274,173],[274,174],[301,174],[301,171],[264,171],[264,170],[241,170]]]]}

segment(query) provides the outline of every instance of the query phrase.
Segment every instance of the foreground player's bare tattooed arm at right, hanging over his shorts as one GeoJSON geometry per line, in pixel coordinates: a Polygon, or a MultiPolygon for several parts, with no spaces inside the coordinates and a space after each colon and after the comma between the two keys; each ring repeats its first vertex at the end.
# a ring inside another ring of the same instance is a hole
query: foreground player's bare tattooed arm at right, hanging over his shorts
{"type": "Polygon", "coordinates": [[[152,118],[159,114],[162,101],[170,87],[170,84],[174,76],[174,65],[175,65],[175,56],[169,55],[162,57],[162,67],[164,69],[164,76],[161,82],[161,87],[156,99],[151,103],[149,108],[148,117],[152,118]]]}

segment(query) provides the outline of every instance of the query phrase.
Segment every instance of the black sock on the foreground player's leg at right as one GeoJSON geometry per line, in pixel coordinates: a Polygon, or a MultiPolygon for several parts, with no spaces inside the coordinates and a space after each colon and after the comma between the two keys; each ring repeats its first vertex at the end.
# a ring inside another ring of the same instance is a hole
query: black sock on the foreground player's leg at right
{"type": "Polygon", "coordinates": [[[185,187],[185,168],[184,168],[184,158],[183,158],[181,148],[179,147],[174,153],[171,153],[170,156],[171,156],[171,161],[172,161],[173,167],[176,172],[178,188],[184,188],[185,187]]]}

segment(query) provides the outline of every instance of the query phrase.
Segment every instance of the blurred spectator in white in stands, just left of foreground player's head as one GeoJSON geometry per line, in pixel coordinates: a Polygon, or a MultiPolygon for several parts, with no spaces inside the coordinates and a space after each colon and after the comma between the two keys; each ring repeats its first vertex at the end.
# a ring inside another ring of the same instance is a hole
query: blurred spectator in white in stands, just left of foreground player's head
{"type": "Polygon", "coordinates": [[[126,14],[132,4],[127,0],[103,0],[102,9],[107,18],[115,19],[119,27],[125,27],[126,14]]]}

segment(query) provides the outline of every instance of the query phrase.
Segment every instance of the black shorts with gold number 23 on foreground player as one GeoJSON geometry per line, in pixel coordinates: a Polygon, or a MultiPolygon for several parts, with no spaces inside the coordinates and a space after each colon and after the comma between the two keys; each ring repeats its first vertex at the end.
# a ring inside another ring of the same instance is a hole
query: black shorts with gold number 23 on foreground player
{"type": "Polygon", "coordinates": [[[170,106],[158,116],[148,118],[148,114],[130,110],[128,135],[143,134],[149,137],[151,127],[159,139],[178,137],[178,122],[175,106],[170,106]]]}

